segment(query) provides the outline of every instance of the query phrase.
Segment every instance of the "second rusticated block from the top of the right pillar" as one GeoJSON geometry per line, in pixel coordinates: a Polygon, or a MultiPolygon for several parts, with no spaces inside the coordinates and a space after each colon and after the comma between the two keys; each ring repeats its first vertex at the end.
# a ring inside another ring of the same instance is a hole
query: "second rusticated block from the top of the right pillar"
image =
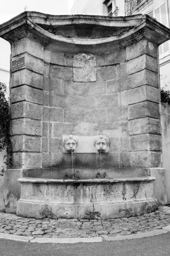
{"type": "Polygon", "coordinates": [[[127,74],[133,74],[143,69],[158,73],[157,59],[144,54],[127,62],[127,74]]]}

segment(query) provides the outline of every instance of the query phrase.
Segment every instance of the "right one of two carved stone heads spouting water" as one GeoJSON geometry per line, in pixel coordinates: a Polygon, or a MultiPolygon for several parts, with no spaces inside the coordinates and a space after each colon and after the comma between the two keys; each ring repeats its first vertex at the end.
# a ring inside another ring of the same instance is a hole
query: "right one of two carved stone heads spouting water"
{"type": "Polygon", "coordinates": [[[99,153],[108,153],[109,152],[109,138],[105,135],[98,135],[94,140],[94,146],[99,153]]]}

